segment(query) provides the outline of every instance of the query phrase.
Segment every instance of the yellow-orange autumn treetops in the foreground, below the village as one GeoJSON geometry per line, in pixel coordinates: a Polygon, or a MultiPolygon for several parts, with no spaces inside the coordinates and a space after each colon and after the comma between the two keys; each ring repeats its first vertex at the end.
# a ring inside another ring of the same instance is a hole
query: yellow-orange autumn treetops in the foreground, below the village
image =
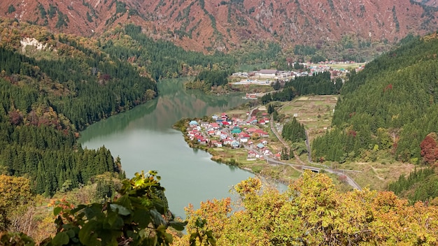
{"type": "MultiPolygon", "coordinates": [[[[255,178],[234,189],[241,204],[224,200],[188,211],[204,218],[217,245],[436,245],[438,208],[409,205],[388,191],[340,193],[324,174],[305,172],[288,191],[263,187],[255,178]],[[227,216],[226,216],[227,215],[227,216]]],[[[195,230],[189,223],[187,231],[195,230]]],[[[179,242],[175,242],[176,245],[179,242]]]]}

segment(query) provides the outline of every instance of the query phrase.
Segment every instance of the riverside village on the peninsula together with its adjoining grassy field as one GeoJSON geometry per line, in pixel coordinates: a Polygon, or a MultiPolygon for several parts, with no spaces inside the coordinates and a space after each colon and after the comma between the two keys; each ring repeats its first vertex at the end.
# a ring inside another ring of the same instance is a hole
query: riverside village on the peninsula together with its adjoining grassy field
{"type": "Polygon", "coordinates": [[[299,178],[304,170],[324,171],[340,177],[337,182],[343,185],[343,189],[360,189],[344,173],[348,170],[338,170],[309,159],[309,145],[306,143],[327,131],[336,101],[337,97],[333,95],[315,95],[277,104],[280,106],[278,111],[284,114],[281,122],[295,117],[306,126],[308,140],[295,143],[294,147],[283,139],[283,124],[274,122],[265,106],[255,106],[250,111],[245,107],[234,108],[202,119],[182,119],[174,126],[183,131],[190,147],[209,152],[213,161],[238,166],[284,183],[299,178]]]}

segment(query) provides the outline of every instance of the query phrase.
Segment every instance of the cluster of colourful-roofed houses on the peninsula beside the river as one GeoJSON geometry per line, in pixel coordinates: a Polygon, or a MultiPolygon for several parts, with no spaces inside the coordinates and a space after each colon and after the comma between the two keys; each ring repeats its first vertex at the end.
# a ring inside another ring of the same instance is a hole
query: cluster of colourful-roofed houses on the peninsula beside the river
{"type": "Polygon", "coordinates": [[[250,149],[248,159],[262,159],[264,156],[276,158],[278,154],[272,154],[267,147],[269,133],[261,129],[267,123],[267,113],[263,113],[259,118],[248,117],[247,120],[228,117],[226,113],[222,113],[213,115],[211,122],[192,120],[186,131],[188,138],[192,141],[197,140],[200,145],[231,148],[245,145],[250,149]]]}

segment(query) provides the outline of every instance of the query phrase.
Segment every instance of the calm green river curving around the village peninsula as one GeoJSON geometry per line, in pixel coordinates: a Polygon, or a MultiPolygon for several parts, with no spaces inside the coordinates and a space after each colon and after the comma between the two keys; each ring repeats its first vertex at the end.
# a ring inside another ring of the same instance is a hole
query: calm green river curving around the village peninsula
{"type": "Polygon", "coordinates": [[[185,217],[184,207],[192,203],[230,196],[229,189],[253,177],[239,168],[218,164],[210,154],[192,150],[182,133],[171,126],[182,117],[202,117],[221,113],[244,103],[242,95],[205,95],[185,91],[183,79],[162,80],[160,96],[129,112],[92,124],[81,133],[83,147],[101,146],[122,160],[127,177],[142,170],[158,171],[176,216],[185,217]]]}

